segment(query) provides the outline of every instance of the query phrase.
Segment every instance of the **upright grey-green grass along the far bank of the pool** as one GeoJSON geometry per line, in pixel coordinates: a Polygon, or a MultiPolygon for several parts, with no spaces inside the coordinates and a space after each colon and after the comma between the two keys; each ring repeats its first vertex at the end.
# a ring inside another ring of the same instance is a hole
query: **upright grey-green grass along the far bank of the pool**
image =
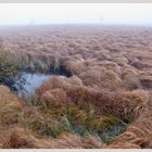
{"type": "Polygon", "coordinates": [[[43,73],[71,76],[71,72],[66,69],[61,61],[58,52],[54,54],[35,54],[35,53],[15,53],[16,58],[24,62],[24,72],[43,73]]]}

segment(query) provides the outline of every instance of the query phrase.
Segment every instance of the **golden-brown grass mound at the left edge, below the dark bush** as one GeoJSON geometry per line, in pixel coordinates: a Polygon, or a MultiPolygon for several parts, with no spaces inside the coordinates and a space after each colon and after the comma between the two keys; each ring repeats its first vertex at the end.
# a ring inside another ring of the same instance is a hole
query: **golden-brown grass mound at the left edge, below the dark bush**
{"type": "Polygon", "coordinates": [[[8,129],[20,122],[22,103],[10,89],[0,86],[0,143],[8,137],[8,129]]]}

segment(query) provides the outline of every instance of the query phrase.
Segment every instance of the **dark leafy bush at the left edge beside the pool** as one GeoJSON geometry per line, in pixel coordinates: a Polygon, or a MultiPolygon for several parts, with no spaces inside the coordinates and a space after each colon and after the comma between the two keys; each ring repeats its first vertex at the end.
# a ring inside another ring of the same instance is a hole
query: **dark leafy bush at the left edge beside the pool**
{"type": "Polygon", "coordinates": [[[0,48],[0,84],[10,87],[14,91],[23,90],[26,80],[22,67],[24,62],[3,47],[0,48]]]}

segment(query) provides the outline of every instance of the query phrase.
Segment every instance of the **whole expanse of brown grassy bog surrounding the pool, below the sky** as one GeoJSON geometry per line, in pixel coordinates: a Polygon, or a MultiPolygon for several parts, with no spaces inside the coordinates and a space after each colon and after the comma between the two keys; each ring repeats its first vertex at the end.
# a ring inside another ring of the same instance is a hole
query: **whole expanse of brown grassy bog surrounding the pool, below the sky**
{"type": "Polygon", "coordinates": [[[3,27],[0,37],[26,68],[67,76],[26,103],[1,86],[2,148],[152,148],[151,27],[3,27]]]}

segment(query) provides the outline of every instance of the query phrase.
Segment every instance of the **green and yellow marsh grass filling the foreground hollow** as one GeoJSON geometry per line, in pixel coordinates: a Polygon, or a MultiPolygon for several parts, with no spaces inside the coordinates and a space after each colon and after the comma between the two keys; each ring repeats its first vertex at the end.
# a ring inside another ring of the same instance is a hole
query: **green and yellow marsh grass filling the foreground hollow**
{"type": "Polygon", "coordinates": [[[36,113],[31,118],[23,118],[23,124],[40,136],[56,138],[62,132],[78,136],[96,135],[106,142],[106,138],[118,135],[123,130],[122,128],[126,127],[119,125],[116,128],[116,124],[121,124],[119,119],[112,115],[98,114],[91,104],[88,104],[89,110],[81,109],[75,103],[64,106],[52,104],[47,107],[40,105],[38,100],[37,97],[26,99],[29,106],[35,106],[36,113]]]}

